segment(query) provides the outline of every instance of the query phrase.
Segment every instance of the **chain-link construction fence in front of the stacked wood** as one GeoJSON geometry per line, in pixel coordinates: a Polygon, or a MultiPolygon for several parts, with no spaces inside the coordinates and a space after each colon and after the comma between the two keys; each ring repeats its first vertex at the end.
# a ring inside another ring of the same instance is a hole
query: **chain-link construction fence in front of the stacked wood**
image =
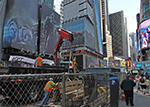
{"type": "MultiPolygon", "coordinates": [[[[39,107],[50,78],[57,83],[45,107],[110,107],[110,78],[123,73],[45,73],[0,75],[0,107],[39,107]]],[[[119,96],[121,90],[119,88],[119,96]]]]}

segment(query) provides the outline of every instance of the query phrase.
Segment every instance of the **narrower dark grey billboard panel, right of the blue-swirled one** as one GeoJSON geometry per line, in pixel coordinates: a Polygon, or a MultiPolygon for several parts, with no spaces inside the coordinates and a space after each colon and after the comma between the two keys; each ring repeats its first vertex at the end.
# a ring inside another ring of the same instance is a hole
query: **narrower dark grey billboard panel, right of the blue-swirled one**
{"type": "Polygon", "coordinates": [[[60,15],[47,5],[42,4],[40,52],[54,53],[54,48],[59,38],[58,29],[60,15]]]}

